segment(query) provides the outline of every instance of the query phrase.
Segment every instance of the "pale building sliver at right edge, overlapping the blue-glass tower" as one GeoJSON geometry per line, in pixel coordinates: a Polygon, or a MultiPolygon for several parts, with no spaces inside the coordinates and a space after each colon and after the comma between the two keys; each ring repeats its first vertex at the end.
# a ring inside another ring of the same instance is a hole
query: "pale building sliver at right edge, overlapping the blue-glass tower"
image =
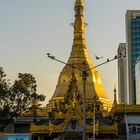
{"type": "Polygon", "coordinates": [[[136,103],[140,104],[140,56],[137,59],[135,71],[136,71],[136,103]]]}

